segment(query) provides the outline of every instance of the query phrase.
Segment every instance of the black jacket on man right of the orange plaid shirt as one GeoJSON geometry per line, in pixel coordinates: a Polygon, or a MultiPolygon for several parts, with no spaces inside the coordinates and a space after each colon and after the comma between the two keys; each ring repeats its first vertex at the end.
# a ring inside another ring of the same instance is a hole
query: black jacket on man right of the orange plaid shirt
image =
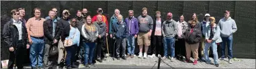
{"type": "MultiPolygon", "coordinates": [[[[59,25],[55,25],[55,26],[57,27],[59,25]]],[[[56,27],[55,27],[54,37],[52,36],[52,30],[53,30],[52,19],[47,19],[46,21],[44,21],[43,27],[44,27],[44,41],[47,44],[52,44],[54,39],[59,38],[59,37],[56,37],[58,33],[58,31],[56,31],[56,27]]]]}

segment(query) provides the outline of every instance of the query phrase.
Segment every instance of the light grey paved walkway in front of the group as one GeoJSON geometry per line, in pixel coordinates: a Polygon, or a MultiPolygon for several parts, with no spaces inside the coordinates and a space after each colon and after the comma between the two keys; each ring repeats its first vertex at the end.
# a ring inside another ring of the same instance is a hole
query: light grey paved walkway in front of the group
{"type": "MultiPolygon", "coordinates": [[[[191,58],[191,60],[193,60],[191,58]]],[[[213,59],[210,58],[210,60],[213,59]]],[[[91,68],[152,68],[155,63],[157,63],[158,58],[127,58],[127,60],[112,60],[112,58],[106,58],[103,62],[97,62],[95,67],[91,68]]],[[[216,67],[214,65],[206,64],[205,62],[198,62],[197,65],[193,65],[193,63],[185,63],[179,60],[175,60],[171,62],[171,60],[166,59],[161,62],[160,68],[255,68],[255,59],[242,59],[242,58],[234,58],[232,59],[232,64],[228,63],[228,59],[225,58],[220,62],[220,66],[216,67]]],[[[194,61],[194,60],[193,60],[194,61]]],[[[85,68],[80,65],[79,68],[85,68]]],[[[157,64],[153,67],[157,68],[157,64]]]]}

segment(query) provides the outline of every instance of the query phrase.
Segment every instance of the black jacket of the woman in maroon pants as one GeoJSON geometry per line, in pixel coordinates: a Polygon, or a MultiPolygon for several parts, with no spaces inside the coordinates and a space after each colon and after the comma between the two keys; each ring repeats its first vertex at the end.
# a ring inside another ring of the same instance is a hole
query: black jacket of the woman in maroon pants
{"type": "MultiPolygon", "coordinates": [[[[197,23],[197,24],[200,24],[200,23],[197,23]]],[[[200,42],[202,38],[202,32],[201,32],[200,26],[195,26],[194,31],[192,33],[190,33],[190,31],[191,31],[191,26],[189,25],[189,27],[185,31],[185,42],[187,42],[187,44],[196,44],[200,42]]]]}

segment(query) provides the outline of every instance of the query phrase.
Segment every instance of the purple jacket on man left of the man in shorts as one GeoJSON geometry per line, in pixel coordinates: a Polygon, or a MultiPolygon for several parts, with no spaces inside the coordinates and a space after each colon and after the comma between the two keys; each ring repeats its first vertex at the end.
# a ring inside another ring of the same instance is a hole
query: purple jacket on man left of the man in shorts
{"type": "Polygon", "coordinates": [[[133,16],[132,19],[129,20],[129,17],[126,17],[125,22],[129,30],[129,36],[138,35],[138,19],[133,16]]]}

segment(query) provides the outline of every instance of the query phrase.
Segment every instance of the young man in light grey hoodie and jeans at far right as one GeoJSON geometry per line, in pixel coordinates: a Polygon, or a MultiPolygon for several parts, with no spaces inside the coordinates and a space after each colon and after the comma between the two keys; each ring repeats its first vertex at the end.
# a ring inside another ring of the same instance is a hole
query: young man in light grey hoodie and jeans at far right
{"type": "Polygon", "coordinates": [[[228,63],[232,64],[232,34],[237,31],[237,24],[229,17],[230,11],[224,11],[224,17],[218,21],[220,26],[220,37],[222,38],[221,44],[221,60],[225,57],[226,44],[228,46],[228,63]]]}

